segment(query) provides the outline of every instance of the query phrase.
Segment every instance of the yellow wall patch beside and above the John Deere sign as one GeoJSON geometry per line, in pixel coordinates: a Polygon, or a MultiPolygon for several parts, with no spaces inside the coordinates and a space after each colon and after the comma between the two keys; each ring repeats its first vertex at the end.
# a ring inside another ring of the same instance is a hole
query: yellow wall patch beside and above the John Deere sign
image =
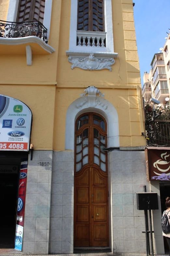
{"type": "Polygon", "coordinates": [[[52,149],[55,86],[1,85],[0,94],[21,100],[31,109],[34,149],[52,149]]]}

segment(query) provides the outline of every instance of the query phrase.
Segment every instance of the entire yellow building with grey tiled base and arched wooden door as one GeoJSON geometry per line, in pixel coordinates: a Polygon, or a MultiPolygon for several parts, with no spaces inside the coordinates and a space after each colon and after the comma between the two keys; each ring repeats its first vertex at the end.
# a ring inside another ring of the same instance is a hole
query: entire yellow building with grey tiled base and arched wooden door
{"type": "MultiPolygon", "coordinates": [[[[145,252],[136,193],[158,183],[146,179],[132,0],[0,5],[3,247],[145,252]]],[[[164,253],[160,230],[154,242],[164,253]]]]}

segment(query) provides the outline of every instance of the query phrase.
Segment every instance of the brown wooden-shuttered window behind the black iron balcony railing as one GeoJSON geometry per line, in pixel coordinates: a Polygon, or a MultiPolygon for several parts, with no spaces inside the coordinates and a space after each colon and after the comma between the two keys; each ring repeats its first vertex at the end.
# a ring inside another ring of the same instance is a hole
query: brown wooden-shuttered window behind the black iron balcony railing
{"type": "Polygon", "coordinates": [[[19,0],[17,21],[44,20],[45,0],[19,0]]]}

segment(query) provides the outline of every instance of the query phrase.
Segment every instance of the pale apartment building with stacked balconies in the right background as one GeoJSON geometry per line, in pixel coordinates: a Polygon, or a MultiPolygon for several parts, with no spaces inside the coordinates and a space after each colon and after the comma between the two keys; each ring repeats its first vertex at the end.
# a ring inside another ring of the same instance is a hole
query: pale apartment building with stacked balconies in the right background
{"type": "Polygon", "coordinates": [[[149,74],[145,72],[143,76],[142,96],[145,100],[154,97],[161,101],[161,104],[165,104],[165,98],[169,97],[170,53],[168,49],[170,50],[170,34],[166,39],[162,52],[154,54],[149,74]]]}

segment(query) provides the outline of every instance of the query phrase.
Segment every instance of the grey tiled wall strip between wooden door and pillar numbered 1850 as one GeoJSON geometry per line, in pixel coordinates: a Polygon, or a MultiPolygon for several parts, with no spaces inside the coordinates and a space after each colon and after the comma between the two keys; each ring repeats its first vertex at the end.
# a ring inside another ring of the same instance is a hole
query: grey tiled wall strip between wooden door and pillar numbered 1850
{"type": "Polygon", "coordinates": [[[52,162],[50,253],[73,253],[74,152],[54,151],[52,162]]]}

